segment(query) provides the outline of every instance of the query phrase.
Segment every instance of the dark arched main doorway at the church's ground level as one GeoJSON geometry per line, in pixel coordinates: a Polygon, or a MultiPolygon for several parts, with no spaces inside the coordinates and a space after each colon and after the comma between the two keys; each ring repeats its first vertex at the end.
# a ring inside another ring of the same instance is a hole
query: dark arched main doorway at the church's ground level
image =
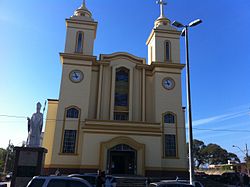
{"type": "Polygon", "coordinates": [[[129,145],[116,145],[108,150],[107,155],[107,170],[109,174],[136,174],[137,151],[129,145]]]}

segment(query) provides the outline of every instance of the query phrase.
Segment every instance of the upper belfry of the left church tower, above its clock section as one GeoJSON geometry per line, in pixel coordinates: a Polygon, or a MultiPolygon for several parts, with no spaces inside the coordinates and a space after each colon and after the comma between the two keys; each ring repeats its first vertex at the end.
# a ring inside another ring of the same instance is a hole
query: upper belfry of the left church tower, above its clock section
{"type": "Polygon", "coordinates": [[[85,1],[66,19],[67,35],[65,53],[93,55],[94,40],[96,38],[97,22],[86,8],[85,1]]]}

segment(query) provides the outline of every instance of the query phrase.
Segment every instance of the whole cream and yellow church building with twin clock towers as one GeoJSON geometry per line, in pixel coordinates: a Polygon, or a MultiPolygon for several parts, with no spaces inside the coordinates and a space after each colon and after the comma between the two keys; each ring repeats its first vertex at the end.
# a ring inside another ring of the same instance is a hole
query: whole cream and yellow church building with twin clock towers
{"type": "Polygon", "coordinates": [[[48,100],[47,173],[187,174],[180,32],[161,12],[146,62],[126,52],[93,56],[97,22],[85,3],[66,27],[60,95],[48,100]]]}

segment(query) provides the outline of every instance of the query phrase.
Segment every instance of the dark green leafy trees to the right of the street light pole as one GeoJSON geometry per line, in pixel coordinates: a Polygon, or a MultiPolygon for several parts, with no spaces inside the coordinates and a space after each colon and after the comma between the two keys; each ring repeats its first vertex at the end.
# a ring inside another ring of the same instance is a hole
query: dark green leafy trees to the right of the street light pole
{"type": "Polygon", "coordinates": [[[217,144],[205,145],[201,140],[193,140],[193,156],[195,166],[205,164],[227,164],[228,160],[240,162],[236,154],[227,152],[217,144]]]}

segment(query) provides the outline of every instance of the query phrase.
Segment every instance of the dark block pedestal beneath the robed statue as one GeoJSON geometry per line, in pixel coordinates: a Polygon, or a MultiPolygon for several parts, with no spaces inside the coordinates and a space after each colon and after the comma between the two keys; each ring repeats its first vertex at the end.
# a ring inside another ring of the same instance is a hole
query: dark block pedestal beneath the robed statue
{"type": "Polygon", "coordinates": [[[23,187],[34,177],[43,174],[47,149],[42,147],[15,147],[15,165],[11,187],[23,187]]]}

